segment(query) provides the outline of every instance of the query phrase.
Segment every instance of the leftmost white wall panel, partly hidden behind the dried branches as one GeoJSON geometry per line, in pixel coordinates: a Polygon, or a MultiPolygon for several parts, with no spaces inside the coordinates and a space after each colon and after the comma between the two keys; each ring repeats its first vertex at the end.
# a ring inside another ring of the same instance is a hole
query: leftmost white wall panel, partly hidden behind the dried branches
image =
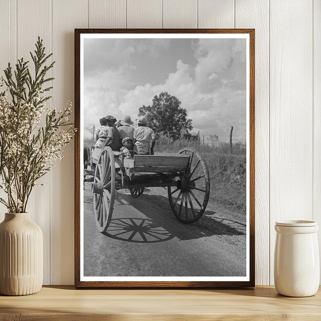
{"type": "MultiPolygon", "coordinates": [[[[4,77],[3,70],[10,62],[14,66],[17,59],[17,46],[16,46],[16,1],[3,0],[1,1],[0,8],[0,77],[4,77]]],[[[6,194],[0,191],[0,197],[6,198],[6,194]]],[[[4,219],[4,213],[7,208],[4,204],[0,203],[0,222],[4,219]]]]}

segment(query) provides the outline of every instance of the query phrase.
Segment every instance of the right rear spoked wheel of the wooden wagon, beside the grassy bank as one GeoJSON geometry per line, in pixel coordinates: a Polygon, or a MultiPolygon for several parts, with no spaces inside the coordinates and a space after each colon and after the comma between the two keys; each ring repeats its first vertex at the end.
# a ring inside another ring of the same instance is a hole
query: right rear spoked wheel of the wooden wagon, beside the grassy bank
{"type": "Polygon", "coordinates": [[[210,175],[203,156],[195,149],[179,151],[190,157],[187,172],[178,187],[168,187],[169,204],[179,221],[193,223],[203,215],[210,195],[210,175]]]}

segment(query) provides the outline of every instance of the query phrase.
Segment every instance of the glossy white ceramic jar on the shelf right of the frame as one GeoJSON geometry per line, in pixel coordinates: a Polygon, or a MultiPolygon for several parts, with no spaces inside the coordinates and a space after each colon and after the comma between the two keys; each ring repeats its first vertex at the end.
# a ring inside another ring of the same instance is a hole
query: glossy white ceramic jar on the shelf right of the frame
{"type": "Polygon", "coordinates": [[[278,293],[309,297],[317,293],[320,263],[315,221],[276,221],[274,284],[278,293]]]}

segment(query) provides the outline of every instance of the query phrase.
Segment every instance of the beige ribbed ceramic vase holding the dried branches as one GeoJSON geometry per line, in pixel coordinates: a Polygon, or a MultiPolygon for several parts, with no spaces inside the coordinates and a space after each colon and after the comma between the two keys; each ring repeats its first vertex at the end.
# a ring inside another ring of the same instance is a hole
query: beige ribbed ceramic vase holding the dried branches
{"type": "Polygon", "coordinates": [[[39,292],[43,282],[43,237],[29,213],[5,213],[0,223],[0,294],[39,292]]]}

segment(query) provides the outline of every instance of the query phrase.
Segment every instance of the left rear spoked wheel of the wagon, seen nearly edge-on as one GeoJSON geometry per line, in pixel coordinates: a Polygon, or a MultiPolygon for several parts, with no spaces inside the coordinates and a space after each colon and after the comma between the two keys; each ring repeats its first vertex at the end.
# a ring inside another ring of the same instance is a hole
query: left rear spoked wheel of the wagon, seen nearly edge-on
{"type": "Polygon", "coordinates": [[[111,220],[115,200],[115,160],[110,147],[104,147],[99,155],[91,190],[97,229],[105,232],[111,220]]]}

